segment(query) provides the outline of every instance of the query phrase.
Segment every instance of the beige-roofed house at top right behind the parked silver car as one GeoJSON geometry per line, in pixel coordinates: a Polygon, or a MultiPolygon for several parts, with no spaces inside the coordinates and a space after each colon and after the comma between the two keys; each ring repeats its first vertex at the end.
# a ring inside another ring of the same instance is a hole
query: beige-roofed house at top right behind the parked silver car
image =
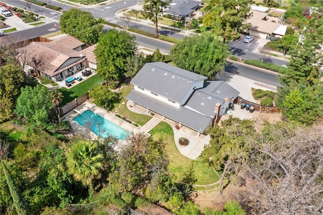
{"type": "Polygon", "coordinates": [[[250,10],[250,12],[252,12],[252,16],[246,20],[246,23],[251,24],[251,27],[246,30],[249,35],[264,39],[282,37],[285,35],[287,26],[268,21],[268,13],[257,10],[250,10]]]}

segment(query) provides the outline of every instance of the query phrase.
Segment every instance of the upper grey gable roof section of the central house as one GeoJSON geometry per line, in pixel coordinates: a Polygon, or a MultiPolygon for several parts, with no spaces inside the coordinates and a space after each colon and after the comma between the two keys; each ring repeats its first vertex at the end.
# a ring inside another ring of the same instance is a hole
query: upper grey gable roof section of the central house
{"type": "Polygon", "coordinates": [[[131,80],[131,84],[180,102],[194,82],[207,77],[163,62],[147,63],[131,80]]]}

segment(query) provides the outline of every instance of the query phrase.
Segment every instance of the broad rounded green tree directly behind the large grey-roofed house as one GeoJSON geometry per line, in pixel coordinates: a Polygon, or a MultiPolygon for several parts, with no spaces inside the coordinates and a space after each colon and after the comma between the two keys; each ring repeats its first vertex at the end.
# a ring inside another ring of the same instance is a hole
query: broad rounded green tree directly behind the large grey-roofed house
{"type": "Polygon", "coordinates": [[[224,70],[229,53],[228,45],[208,33],[185,37],[170,51],[171,59],[177,67],[209,79],[224,70]]]}

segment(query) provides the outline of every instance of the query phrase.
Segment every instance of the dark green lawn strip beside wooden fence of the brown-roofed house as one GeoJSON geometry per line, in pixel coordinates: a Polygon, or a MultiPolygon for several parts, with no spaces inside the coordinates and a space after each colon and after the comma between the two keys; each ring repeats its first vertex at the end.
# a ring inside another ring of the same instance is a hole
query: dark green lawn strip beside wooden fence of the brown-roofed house
{"type": "Polygon", "coordinates": [[[103,81],[103,78],[100,78],[98,75],[94,75],[91,78],[82,81],[75,87],[72,87],[71,89],[62,88],[61,91],[64,95],[62,106],[72,101],[74,98],[84,95],[87,91],[98,86],[103,81]]]}

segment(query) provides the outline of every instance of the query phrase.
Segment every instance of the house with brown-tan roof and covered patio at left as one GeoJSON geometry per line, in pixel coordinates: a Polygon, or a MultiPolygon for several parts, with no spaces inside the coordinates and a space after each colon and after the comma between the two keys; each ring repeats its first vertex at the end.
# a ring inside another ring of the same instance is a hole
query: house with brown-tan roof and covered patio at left
{"type": "Polygon", "coordinates": [[[85,43],[72,36],[50,42],[31,42],[19,59],[27,73],[35,72],[53,81],[63,81],[70,76],[81,76],[81,71],[89,65],[82,54],[83,47],[85,43]]]}

